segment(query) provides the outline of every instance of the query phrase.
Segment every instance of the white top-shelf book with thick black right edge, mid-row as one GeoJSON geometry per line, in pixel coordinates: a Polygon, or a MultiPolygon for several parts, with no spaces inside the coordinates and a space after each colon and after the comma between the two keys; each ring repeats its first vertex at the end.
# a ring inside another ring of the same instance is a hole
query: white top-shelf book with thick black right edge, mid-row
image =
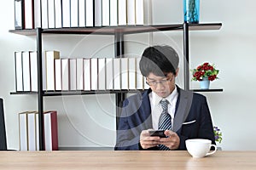
{"type": "Polygon", "coordinates": [[[94,0],[86,0],[85,26],[94,26],[94,0]]]}

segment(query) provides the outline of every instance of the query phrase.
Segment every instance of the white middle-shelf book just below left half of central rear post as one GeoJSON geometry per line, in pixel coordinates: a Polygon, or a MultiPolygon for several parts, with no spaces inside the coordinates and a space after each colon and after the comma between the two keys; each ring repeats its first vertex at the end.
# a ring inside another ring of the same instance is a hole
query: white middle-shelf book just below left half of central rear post
{"type": "Polygon", "coordinates": [[[120,58],[113,59],[113,89],[121,89],[121,62],[120,58]]]}

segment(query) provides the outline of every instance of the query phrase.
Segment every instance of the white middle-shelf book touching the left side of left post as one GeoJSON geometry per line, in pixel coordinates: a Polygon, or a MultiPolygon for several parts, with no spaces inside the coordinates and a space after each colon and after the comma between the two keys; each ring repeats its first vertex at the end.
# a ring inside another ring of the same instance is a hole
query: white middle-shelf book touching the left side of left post
{"type": "Polygon", "coordinates": [[[31,91],[38,92],[38,52],[30,53],[31,91]]]}

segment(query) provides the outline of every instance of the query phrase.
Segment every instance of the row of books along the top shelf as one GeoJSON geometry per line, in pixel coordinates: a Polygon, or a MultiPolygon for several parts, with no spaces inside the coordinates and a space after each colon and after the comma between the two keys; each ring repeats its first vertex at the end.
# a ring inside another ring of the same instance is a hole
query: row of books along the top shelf
{"type": "Polygon", "coordinates": [[[15,29],[148,25],[148,7],[151,0],[15,0],[15,29]]]}

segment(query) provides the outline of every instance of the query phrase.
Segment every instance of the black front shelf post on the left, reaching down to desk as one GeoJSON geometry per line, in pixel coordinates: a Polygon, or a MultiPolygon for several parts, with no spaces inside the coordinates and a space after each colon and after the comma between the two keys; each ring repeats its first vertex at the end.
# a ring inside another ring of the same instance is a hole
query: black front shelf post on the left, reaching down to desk
{"type": "Polygon", "coordinates": [[[43,74],[42,74],[42,28],[37,28],[38,50],[38,127],[39,150],[44,149],[44,101],[43,101],[43,74]]]}

